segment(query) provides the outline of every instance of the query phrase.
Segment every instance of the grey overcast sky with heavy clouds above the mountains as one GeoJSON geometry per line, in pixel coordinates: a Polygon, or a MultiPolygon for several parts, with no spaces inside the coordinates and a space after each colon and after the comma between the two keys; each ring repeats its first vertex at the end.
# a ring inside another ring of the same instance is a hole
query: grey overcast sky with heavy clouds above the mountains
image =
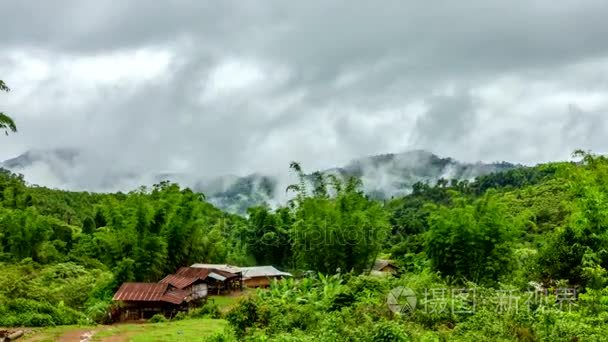
{"type": "Polygon", "coordinates": [[[247,174],[608,143],[608,1],[0,1],[0,110],[96,168],[247,174]]]}

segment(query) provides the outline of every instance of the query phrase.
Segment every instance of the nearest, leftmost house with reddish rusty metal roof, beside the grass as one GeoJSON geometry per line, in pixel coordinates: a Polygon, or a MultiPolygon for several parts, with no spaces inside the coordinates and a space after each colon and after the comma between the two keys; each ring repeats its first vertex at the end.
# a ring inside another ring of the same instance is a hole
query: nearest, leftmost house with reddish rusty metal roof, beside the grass
{"type": "Polygon", "coordinates": [[[124,283],[112,298],[120,302],[120,321],[148,319],[155,314],[175,316],[188,308],[188,291],[168,283],[124,283]]]}

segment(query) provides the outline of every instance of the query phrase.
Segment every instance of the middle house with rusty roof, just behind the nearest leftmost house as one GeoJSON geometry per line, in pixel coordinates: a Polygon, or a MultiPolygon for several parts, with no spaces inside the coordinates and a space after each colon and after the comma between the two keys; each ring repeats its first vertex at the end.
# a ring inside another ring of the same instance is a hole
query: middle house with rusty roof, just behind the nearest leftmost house
{"type": "MultiPolygon", "coordinates": [[[[166,282],[179,283],[178,286],[191,288],[198,286],[199,291],[203,290],[205,284],[209,293],[222,294],[233,290],[240,290],[242,287],[241,273],[232,273],[214,268],[181,267],[174,275],[163,279],[166,282]],[[182,284],[183,283],[183,284],[182,284]],[[188,285],[185,285],[188,284],[188,285]],[[194,287],[193,287],[194,286],[194,287]]],[[[161,282],[163,281],[161,280],[161,282]]]]}

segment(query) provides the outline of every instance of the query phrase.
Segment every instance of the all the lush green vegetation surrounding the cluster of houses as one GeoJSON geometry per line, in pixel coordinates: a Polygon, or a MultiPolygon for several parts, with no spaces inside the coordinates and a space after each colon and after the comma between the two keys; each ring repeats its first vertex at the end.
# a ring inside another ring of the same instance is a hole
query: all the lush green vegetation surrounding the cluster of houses
{"type": "Polygon", "coordinates": [[[357,179],[305,177],[293,163],[299,182],[288,205],[250,208],[246,218],[177,184],[74,193],[2,172],[0,326],[103,323],[123,281],[228,262],[312,272],[237,302],[214,298],[174,322],[116,329],[171,340],[200,333],[192,318],[223,317],[228,329],[209,321],[217,341],[602,340],[608,159],[576,155],[578,163],[417,183],[386,202],[357,179]],[[367,275],[380,255],[400,275],[367,275]],[[415,309],[390,310],[399,287],[415,293],[415,309]]]}

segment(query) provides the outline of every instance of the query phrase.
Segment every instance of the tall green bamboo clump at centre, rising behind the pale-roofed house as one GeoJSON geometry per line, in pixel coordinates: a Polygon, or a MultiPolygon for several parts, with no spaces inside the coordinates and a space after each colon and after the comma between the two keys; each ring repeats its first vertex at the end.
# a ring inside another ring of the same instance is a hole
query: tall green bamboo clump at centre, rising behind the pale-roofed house
{"type": "MultiPolygon", "coordinates": [[[[381,204],[363,194],[356,178],[340,183],[328,177],[334,183],[330,197],[321,174],[313,175],[310,196],[299,164],[292,163],[291,168],[299,178],[299,184],[288,187],[297,192],[290,229],[296,264],[324,273],[368,270],[390,229],[381,204]]],[[[271,240],[276,237],[268,236],[271,240]]]]}

